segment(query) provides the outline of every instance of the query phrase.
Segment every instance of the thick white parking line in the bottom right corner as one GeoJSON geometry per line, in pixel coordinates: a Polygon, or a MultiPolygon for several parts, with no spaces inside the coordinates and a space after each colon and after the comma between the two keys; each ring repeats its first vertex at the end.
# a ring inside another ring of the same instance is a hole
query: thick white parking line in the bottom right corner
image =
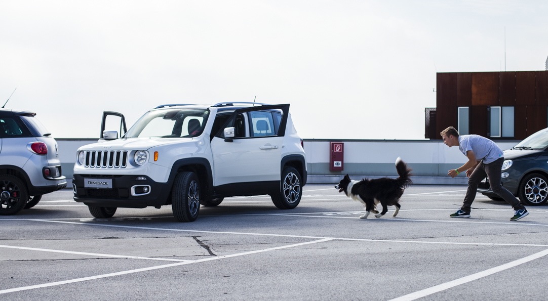
{"type": "Polygon", "coordinates": [[[544,251],[532,254],[530,256],[527,256],[527,257],[524,257],[524,258],[521,258],[521,259],[517,259],[516,261],[505,263],[503,265],[499,265],[498,267],[494,267],[494,268],[490,268],[490,269],[478,272],[476,274],[468,275],[468,276],[465,276],[465,277],[462,277],[462,278],[459,278],[459,279],[455,279],[455,280],[452,280],[452,281],[449,281],[449,282],[446,282],[446,283],[442,283],[442,284],[439,284],[439,285],[436,285],[436,286],[425,288],[424,290],[420,290],[420,291],[417,291],[417,292],[414,292],[414,293],[406,294],[404,296],[392,299],[391,301],[404,301],[404,300],[409,301],[409,300],[416,300],[416,299],[419,299],[419,298],[423,298],[423,297],[429,296],[433,293],[438,293],[438,292],[441,292],[441,291],[445,291],[445,290],[448,290],[449,288],[459,286],[459,285],[462,285],[464,283],[471,282],[471,281],[474,281],[474,280],[477,280],[477,279],[480,279],[480,278],[483,278],[483,277],[487,277],[489,275],[493,275],[495,273],[499,273],[500,271],[504,271],[504,270],[516,267],[517,265],[527,263],[527,262],[530,262],[530,261],[534,261],[535,259],[544,257],[546,255],[548,255],[548,250],[544,250],[544,251]]]}

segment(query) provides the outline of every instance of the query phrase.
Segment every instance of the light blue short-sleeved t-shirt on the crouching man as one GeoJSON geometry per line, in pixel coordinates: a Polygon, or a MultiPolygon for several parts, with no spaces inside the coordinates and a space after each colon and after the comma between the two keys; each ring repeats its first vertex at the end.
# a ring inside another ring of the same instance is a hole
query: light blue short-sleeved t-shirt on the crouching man
{"type": "Polygon", "coordinates": [[[459,136],[459,149],[466,155],[466,152],[472,150],[476,155],[476,160],[489,164],[503,156],[503,150],[492,140],[479,135],[461,135],[459,136]]]}

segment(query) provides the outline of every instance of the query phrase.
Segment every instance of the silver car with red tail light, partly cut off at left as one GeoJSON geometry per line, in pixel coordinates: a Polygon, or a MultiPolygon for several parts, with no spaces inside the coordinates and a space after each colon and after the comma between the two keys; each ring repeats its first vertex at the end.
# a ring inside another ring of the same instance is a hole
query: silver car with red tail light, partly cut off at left
{"type": "Polygon", "coordinates": [[[58,144],[35,116],[0,109],[0,215],[31,208],[67,185],[58,144]]]}

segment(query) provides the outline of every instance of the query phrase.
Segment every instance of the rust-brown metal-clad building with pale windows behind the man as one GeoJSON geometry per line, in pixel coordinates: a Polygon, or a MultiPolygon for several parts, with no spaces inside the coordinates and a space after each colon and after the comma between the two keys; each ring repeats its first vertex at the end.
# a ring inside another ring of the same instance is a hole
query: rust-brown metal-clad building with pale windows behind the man
{"type": "Polygon", "coordinates": [[[426,108],[425,137],[454,126],[460,134],[523,140],[548,126],[548,71],[436,74],[436,108],[426,108]]]}

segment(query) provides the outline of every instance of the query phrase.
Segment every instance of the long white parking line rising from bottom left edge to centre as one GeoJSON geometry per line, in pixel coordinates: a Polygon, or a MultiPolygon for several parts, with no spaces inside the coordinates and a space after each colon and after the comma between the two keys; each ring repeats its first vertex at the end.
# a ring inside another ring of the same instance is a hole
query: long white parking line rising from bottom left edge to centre
{"type": "Polygon", "coordinates": [[[50,282],[50,283],[42,283],[39,285],[31,285],[31,286],[24,286],[24,287],[16,287],[16,288],[9,288],[7,290],[1,290],[0,294],[5,293],[12,293],[12,292],[19,292],[19,291],[27,291],[27,290],[34,290],[36,288],[44,288],[44,287],[51,287],[51,286],[58,286],[58,285],[65,285],[68,283],[75,283],[75,282],[83,282],[83,281],[89,281],[89,280],[96,280],[106,277],[113,277],[113,276],[119,276],[119,275],[126,275],[126,274],[133,274],[133,273],[140,273],[143,271],[150,271],[150,270],[157,270],[157,269],[165,269],[165,268],[172,268],[172,267],[178,267],[179,265],[186,265],[186,264],[192,264],[192,263],[201,263],[201,262],[208,262],[208,261],[215,261],[219,259],[225,259],[225,258],[232,258],[232,257],[238,257],[238,256],[244,256],[244,255],[250,255],[250,254],[256,254],[256,253],[262,253],[262,252],[269,252],[269,251],[276,251],[276,250],[282,250],[284,248],[292,248],[292,247],[299,247],[304,245],[310,245],[310,244],[317,244],[319,242],[326,242],[332,240],[330,238],[323,238],[313,241],[306,241],[306,242],[299,242],[298,244],[291,244],[286,246],[279,246],[279,247],[271,247],[271,248],[265,248],[261,250],[255,250],[255,251],[248,251],[248,252],[242,252],[242,253],[235,253],[230,255],[224,255],[224,256],[217,256],[217,257],[209,257],[209,258],[203,258],[203,259],[197,259],[195,261],[186,261],[186,262],[179,262],[179,263],[172,263],[172,264],[164,264],[164,265],[157,265],[155,267],[149,267],[149,268],[141,268],[141,269],[134,269],[134,270],[127,270],[127,271],[119,271],[116,273],[109,273],[109,274],[103,274],[103,275],[96,275],[96,276],[89,276],[89,277],[82,277],[77,279],[71,279],[71,280],[64,280],[64,281],[56,281],[56,282],[50,282]]]}

